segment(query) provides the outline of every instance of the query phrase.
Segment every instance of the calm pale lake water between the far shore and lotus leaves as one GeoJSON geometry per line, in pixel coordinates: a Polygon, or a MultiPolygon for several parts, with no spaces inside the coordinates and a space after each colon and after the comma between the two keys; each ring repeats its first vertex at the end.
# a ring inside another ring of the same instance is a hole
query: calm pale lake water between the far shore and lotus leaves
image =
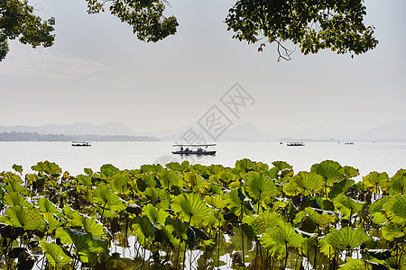
{"type": "Polygon", "coordinates": [[[139,168],[143,164],[189,160],[203,165],[235,166],[235,160],[250,158],[271,165],[283,160],[295,172],[326,159],[341,166],[354,166],[364,176],[371,171],[392,176],[406,168],[406,142],[308,142],[304,147],[288,147],[279,142],[218,142],[215,157],[180,157],[171,154],[172,143],[159,142],[93,142],[89,148],[72,147],[70,142],[0,142],[0,171],[12,170],[14,164],[31,173],[31,166],[49,160],[71,175],[83,173],[85,167],[97,171],[110,163],[125,168],[139,168]]]}

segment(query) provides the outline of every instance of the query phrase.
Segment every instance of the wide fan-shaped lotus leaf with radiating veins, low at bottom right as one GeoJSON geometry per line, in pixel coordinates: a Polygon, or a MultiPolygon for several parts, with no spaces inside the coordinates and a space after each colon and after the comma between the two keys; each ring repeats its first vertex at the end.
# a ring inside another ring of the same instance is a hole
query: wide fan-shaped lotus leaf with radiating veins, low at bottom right
{"type": "Polygon", "coordinates": [[[326,236],[328,244],[330,244],[332,247],[343,250],[359,247],[369,239],[370,237],[366,235],[364,229],[352,229],[351,227],[345,227],[338,230],[332,229],[326,236]]]}

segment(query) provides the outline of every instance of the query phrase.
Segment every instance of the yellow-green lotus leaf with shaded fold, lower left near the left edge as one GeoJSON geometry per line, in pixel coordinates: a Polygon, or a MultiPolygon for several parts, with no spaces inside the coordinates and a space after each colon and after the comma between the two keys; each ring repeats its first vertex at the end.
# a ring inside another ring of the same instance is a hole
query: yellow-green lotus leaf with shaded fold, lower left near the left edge
{"type": "Polygon", "coordinates": [[[10,219],[14,227],[45,231],[45,220],[43,220],[42,215],[35,208],[25,208],[21,205],[15,205],[7,209],[6,216],[10,219]]]}

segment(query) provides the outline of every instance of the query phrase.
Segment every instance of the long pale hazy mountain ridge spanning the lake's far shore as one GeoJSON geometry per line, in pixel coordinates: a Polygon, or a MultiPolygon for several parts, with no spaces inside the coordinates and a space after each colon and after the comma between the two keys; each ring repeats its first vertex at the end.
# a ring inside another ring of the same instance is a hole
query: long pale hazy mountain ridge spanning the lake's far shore
{"type": "MultiPolygon", "coordinates": [[[[189,128],[206,139],[211,139],[206,130],[203,130],[196,123],[184,125],[173,130],[161,130],[154,132],[137,132],[119,122],[106,122],[102,125],[93,125],[88,122],[77,122],[72,124],[45,124],[38,127],[31,126],[0,126],[1,132],[35,132],[38,134],[54,135],[95,135],[95,136],[146,136],[156,137],[167,141],[180,141],[180,138],[189,128]]],[[[361,128],[326,128],[324,126],[306,127],[290,132],[275,130],[277,135],[258,129],[251,123],[232,125],[226,129],[218,141],[277,141],[281,138],[290,139],[311,139],[325,141],[326,139],[348,140],[348,141],[406,141],[406,120],[392,121],[387,124],[370,129],[361,128]],[[283,135],[281,135],[283,134],[283,135]]]]}

